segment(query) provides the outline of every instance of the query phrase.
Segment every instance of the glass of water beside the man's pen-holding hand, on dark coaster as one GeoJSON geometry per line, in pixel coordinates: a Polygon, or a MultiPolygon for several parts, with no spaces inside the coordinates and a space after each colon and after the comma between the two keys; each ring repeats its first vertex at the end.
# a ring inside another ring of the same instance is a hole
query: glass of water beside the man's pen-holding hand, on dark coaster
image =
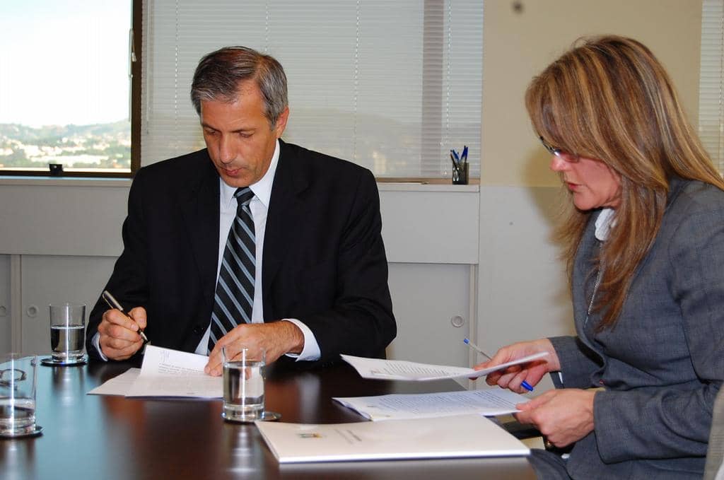
{"type": "MultiPolygon", "coordinates": [[[[50,306],[50,363],[85,363],[85,305],[54,303],[50,306]]],[[[43,363],[48,363],[43,360],[43,363]]]]}

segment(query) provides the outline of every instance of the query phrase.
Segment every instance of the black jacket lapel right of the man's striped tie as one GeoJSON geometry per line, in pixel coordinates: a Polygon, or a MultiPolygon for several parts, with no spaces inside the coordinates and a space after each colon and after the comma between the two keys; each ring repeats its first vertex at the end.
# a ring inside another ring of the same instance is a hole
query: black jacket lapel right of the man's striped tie
{"type": "Polygon", "coordinates": [[[279,272],[279,266],[286,252],[289,242],[296,238],[296,232],[301,222],[303,203],[301,193],[309,185],[308,171],[303,165],[303,159],[295,155],[282,140],[279,140],[279,164],[274,174],[274,183],[271,186],[269,209],[266,214],[266,232],[264,233],[264,255],[262,259],[261,288],[264,291],[264,320],[268,319],[267,300],[271,284],[279,272]]]}

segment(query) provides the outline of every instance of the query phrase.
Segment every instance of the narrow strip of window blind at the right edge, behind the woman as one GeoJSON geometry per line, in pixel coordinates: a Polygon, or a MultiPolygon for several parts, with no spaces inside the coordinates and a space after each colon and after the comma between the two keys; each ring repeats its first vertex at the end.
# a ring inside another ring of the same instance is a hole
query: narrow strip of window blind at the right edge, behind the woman
{"type": "Polygon", "coordinates": [[[724,0],[702,3],[702,61],[699,77],[699,137],[724,172],[724,0]]]}

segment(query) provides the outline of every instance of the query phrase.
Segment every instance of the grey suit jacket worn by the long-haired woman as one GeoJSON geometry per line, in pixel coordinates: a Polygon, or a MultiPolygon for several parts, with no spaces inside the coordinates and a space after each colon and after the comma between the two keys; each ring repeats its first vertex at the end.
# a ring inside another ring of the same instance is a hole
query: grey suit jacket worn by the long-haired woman
{"type": "Polygon", "coordinates": [[[597,253],[592,215],[573,270],[577,337],[552,338],[563,384],[603,387],[574,479],[702,478],[724,379],[724,192],[673,179],[660,231],[613,329],[586,321],[597,253]]]}

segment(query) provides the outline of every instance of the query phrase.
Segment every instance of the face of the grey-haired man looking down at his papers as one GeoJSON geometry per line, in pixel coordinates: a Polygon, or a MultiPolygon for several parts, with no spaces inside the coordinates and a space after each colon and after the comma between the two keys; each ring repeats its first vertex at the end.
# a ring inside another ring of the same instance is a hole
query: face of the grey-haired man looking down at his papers
{"type": "Polygon", "coordinates": [[[264,177],[288,116],[287,108],[276,125],[269,126],[264,116],[264,100],[254,80],[240,83],[237,97],[231,103],[201,101],[203,140],[227,185],[248,187],[264,177]]]}

